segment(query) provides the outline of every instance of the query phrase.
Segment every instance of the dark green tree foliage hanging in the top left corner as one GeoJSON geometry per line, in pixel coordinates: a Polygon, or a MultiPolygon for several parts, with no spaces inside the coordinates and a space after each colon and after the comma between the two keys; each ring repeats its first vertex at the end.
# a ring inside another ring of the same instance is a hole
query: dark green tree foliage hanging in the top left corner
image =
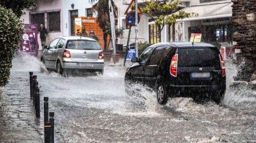
{"type": "Polygon", "coordinates": [[[25,14],[22,10],[29,9],[35,5],[34,0],[0,0],[0,6],[12,9],[12,12],[19,18],[25,14]]]}

